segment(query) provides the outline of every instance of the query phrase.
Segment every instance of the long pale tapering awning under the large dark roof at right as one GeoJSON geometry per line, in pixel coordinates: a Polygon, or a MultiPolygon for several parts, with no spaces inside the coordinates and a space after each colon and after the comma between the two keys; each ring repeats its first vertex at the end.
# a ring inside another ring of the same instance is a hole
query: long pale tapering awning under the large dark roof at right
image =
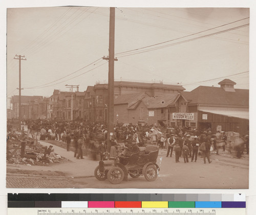
{"type": "Polygon", "coordinates": [[[208,113],[215,113],[230,117],[238,117],[238,118],[244,118],[246,120],[249,120],[249,111],[245,110],[218,110],[218,109],[208,109],[208,108],[199,108],[200,111],[208,112],[208,113]]]}

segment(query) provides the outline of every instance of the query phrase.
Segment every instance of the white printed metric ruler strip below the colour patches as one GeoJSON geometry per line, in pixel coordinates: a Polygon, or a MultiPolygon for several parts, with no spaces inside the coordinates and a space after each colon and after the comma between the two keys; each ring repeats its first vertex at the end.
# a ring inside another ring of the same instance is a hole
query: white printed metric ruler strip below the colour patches
{"type": "Polygon", "coordinates": [[[8,208],[8,215],[245,215],[245,208],[8,208]]]}

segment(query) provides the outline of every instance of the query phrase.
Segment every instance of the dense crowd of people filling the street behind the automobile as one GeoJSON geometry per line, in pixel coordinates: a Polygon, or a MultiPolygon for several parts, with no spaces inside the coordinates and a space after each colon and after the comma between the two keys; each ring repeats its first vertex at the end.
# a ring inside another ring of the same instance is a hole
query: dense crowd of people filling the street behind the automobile
{"type": "MultiPolygon", "coordinates": [[[[80,123],[54,120],[24,120],[23,125],[26,125],[30,133],[40,134],[41,140],[53,139],[67,142],[67,151],[70,146],[75,146],[74,156],[77,159],[83,159],[83,147],[90,151],[100,154],[103,159],[107,151],[106,140],[108,130],[104,124],[96,123],[80,123]],[[91,145],[91,142],[94,144],[91,145]]],[[[12,132],[11,123],[8,126],[8,132],[12,132]]],[[[158,145],[160,149],[167,149],[166,157],[172,157],[175,152],[176,162],[183,155],[184,162],[197,161],[198,153],[201,152],[204,163],[206,158],[210,163],[210,151],[231,149],[231,144],[237,150],[237,157],[241,158],[246,146],[246,153],[249,153],[249,136],[245,135],[238,142],[227,141],[226,132],[212,133],[210,129],[200,131],[198,129],[184,128],[157,128],[154,125],[123,125],[118,124],[114,128],[114,132],[110,133],[111,138],[111,156],[116,156],[114,148],[120,147],[122,142],[126,150],[122,153],[123,156],[137,150],[137,147],[145,147],[147,145],[158,145]],[[137,147],[136,147],[137,146],[137,147]],[[132,150],[131,150],[132,149],[132,150]]]]}

